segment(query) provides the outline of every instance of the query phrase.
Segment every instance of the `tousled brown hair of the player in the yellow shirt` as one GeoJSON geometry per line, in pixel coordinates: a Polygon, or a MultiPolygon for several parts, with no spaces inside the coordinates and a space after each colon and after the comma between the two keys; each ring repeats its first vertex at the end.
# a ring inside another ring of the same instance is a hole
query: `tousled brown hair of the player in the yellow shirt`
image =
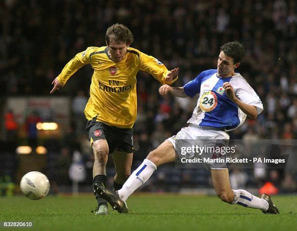
{"type": "Polygon", "coordinates": [[[127,45],[131,44],[134,41],[134,38],[128,27],[123,24],[116,23],[109,27],[106,31],[105,41],[108,46],[111,40],[114,40],[118,44],[125,43],[127,45]]]}

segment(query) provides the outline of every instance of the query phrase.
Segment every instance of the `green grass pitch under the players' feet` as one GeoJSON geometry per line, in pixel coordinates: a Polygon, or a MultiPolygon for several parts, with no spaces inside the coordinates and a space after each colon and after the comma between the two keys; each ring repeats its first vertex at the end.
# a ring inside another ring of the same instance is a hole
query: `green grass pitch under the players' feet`
{"type": "Polygon", "coordinates": [[[127,201],[129,214],[110,211],[108,216],[95,216],[90,212],[96,205],[91,195],[48,196],[36,201],[2,197],[0,221],[32,221],[33,228],[26,230],[40,231],[297,230],[297,195],[275,196],[273,200],[279,215],[229,205],[210,196],[132,195],[127,201]]]}

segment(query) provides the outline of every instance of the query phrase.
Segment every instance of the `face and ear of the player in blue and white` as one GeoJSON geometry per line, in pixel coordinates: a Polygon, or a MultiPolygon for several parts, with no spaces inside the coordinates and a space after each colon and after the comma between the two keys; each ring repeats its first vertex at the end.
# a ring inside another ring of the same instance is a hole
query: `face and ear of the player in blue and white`
{"type": "Polygon", "coordinates": [[[220,77],[227,78],[234,75],[234,69],[239,63],[234,64],[233,59],[221,51],[217,60],[217,73],[220,77]]]}

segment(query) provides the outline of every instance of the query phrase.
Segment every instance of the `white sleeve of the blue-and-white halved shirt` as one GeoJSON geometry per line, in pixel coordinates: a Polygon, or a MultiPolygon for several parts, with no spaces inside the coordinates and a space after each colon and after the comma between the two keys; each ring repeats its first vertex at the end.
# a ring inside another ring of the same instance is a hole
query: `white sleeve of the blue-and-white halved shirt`
{"type": "Polygon", "coordinates": [[[264,109],[263,103],[255,90],[245,79],[237,79],[234,85],[236,86],[235,96],[242,102],[255,106],[259,115],[264,109]]]}

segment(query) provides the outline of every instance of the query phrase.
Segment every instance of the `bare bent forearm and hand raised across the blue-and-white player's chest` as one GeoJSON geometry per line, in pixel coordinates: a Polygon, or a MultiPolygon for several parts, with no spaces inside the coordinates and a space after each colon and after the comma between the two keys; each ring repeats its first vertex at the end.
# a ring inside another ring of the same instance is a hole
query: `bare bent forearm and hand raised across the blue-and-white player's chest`
{"type": "Polygon", "coordinates": [[[224,82],[223,87],[225,88],[227,96],[245,113],[248,117],[256,119],[258,116],[257,108],[254,105],[247,104],[235,96],[234,88],[230,82],[224,82]]]}

